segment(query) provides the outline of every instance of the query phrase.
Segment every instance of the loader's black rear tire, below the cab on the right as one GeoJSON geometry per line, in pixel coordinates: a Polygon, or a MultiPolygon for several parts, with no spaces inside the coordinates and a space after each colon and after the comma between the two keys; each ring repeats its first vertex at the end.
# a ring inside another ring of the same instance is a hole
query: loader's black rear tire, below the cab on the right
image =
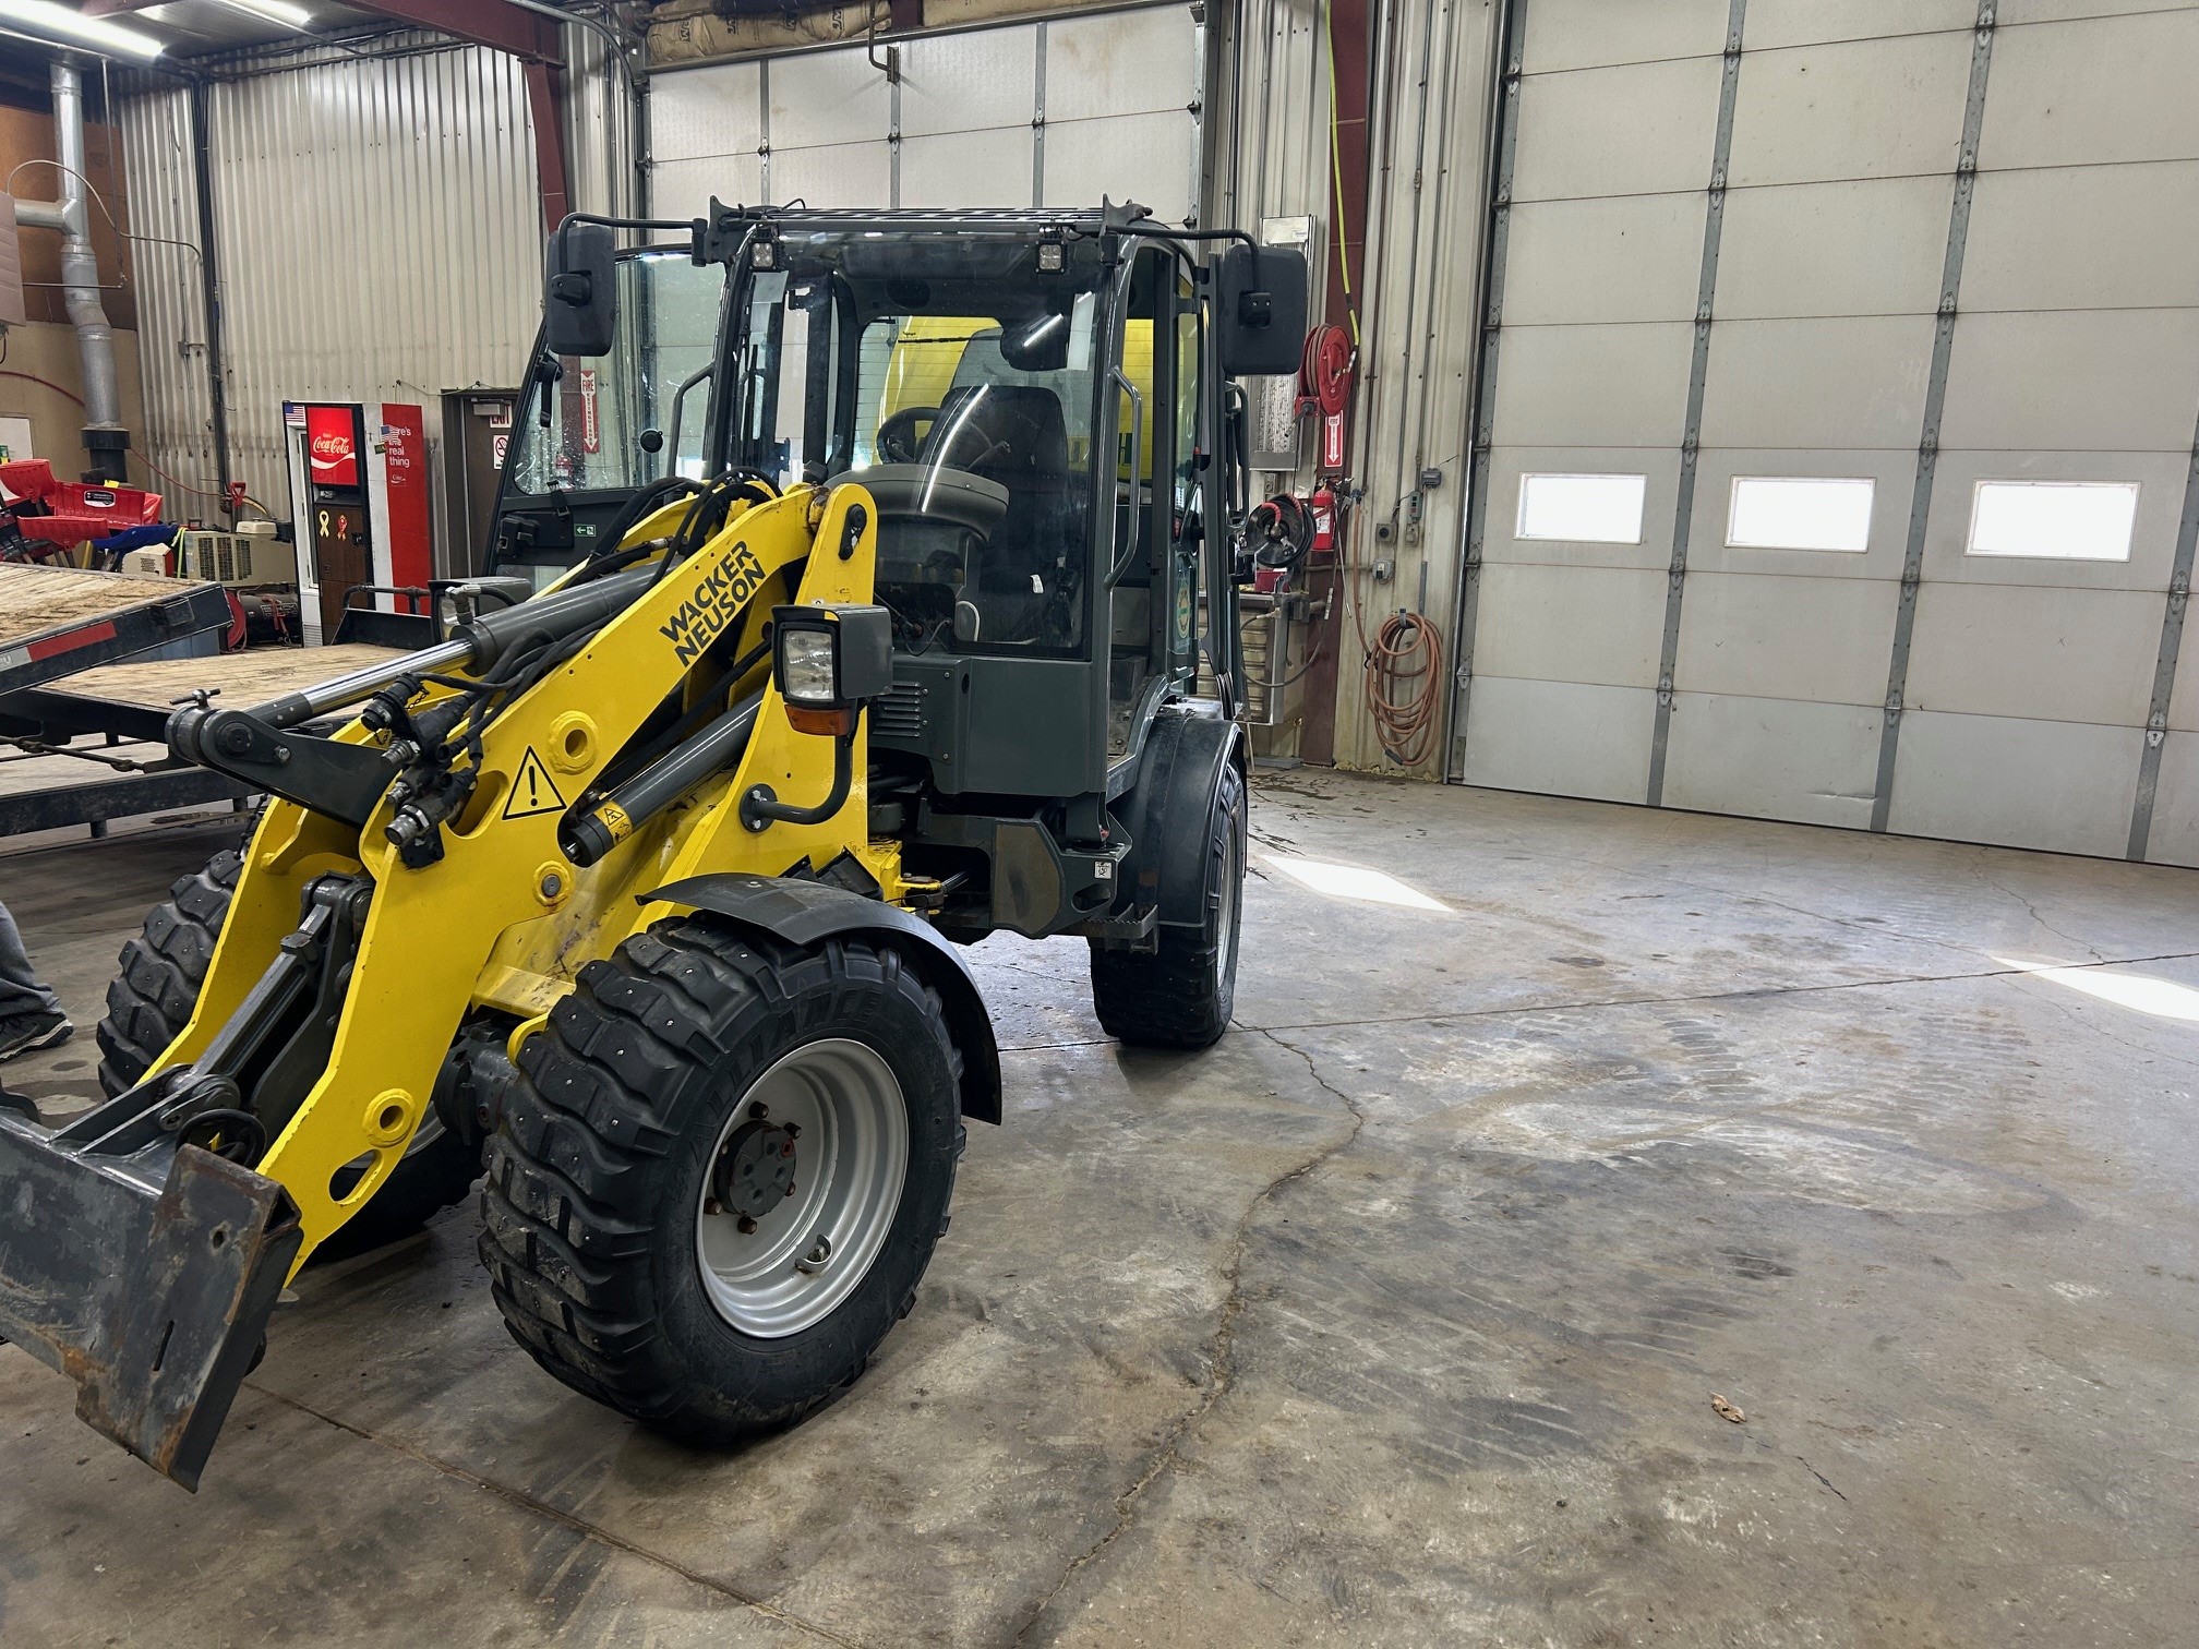
{"type": "Polygon", "coordinates": [[[1161,948],[1152,952],[1102,950],[1093,941],[1093,1009],[1117,1042],[1207,1049],[1229,1029],[1245,923],[1245,774],[1225,761],[1207,814],[1205,926],[1161,928],[1161,948]]]}

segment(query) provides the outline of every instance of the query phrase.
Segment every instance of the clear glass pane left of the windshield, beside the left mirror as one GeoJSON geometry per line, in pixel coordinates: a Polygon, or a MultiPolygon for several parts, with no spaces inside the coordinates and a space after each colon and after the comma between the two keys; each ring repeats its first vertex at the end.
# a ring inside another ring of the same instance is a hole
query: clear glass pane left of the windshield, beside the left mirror
{"type": "Polygon", "coordinates": [[[519,493],[629,490],[677,464],[704,473],[706,385],[686,378],[710,365],[726,270],[697,266],[684,251],[622,257],[618,334],[607,356],[565,356],[559,376],[537,383],[517,435],[510,486],[519,493]],[[673,424],[677,422],[677,451],[673,424]],[[651,451],[655,449],[655,451],[651,451]]]}

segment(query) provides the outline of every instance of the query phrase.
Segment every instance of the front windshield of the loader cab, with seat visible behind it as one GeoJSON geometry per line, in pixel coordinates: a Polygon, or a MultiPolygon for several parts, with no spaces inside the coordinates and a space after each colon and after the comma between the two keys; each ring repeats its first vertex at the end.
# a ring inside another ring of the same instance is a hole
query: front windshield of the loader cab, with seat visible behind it
{"type": "Polygon", "coordinates": [[[1084,642],[1104,268],[1058,251],[796,233],[745,288],[734,462],[871,490],[906,651],[1084,642]]]}

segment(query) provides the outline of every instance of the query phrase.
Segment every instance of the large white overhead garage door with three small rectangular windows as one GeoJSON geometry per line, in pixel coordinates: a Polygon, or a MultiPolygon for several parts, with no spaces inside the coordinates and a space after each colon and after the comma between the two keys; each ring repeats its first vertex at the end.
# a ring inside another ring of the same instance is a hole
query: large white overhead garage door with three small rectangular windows
{"type": "Polygon", "coordinates": [[[1515,0],[1506,66],[1454,772],[2199,862],[2199,9],[1515,0]]]}

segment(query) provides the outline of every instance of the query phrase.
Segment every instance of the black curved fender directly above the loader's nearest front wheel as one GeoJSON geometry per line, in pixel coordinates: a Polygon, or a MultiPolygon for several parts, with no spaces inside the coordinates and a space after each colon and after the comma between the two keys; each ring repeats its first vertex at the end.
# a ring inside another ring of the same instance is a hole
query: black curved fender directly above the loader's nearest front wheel
{"type": "Polygon", "coordinates": [[[924,974],[924,983],[939,992],[948,1036],[954,1038],[963,1060],[963,1115],[972,1121],[1001,1121],[1001,1047],[992,1033],[992,1014],[985,1011],[985,998],[952,941],[924,917],[825,882],[741,871],[693,875],[644,893],[640,901],[708,910],[712,917],[756,928],[789,945],[862,934],[893,943],[924,974]]]}

